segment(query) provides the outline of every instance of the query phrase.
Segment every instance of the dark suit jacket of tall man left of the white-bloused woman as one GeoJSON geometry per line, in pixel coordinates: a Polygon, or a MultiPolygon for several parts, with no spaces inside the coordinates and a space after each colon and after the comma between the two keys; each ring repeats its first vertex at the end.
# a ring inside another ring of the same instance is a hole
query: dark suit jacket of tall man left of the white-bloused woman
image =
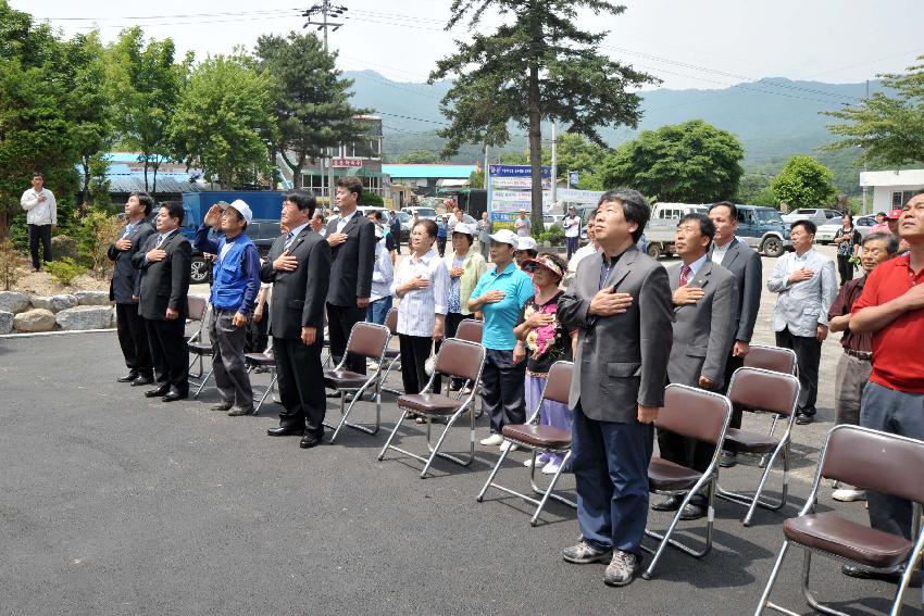
{"type": "MultiPolygon", "coordinates": [[[[337,221],[327,225],[327,237],[337,232],[337,221]]],[[[375,267],[375,225],[358,212],[344,227],[347,241],[330,250],[330,289],[327,301],[335,306],[357,307],[357,298],[372,296],[375,267]]],[[[328,244],[329,246],[329,244],[328,244]]]]}

